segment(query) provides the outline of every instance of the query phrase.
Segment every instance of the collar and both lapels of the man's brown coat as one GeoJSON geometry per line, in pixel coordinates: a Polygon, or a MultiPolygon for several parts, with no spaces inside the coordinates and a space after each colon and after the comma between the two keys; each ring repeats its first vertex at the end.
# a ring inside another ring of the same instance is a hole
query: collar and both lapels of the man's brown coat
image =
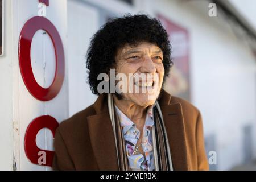
{"type": "MultiPolygon", "coordinates": [[[[172,103],[171,95],[162,90],[159,96],[164,125],[175,170],[188,170],[183,112],[180,103],[172,103]]],[[[106,94],[101,94],[93,107],[95,115],[87,117],[90,141],[100,170],[118,170],[117,151],[110,121],[106,94]]]]}

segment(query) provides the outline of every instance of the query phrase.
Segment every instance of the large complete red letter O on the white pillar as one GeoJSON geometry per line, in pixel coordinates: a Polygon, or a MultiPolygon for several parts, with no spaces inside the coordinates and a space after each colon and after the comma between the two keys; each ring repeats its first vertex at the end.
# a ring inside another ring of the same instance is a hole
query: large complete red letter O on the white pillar
{"type": "Polygon", "coordinates": [[[20,72],[28,92],[40,101],[52,100],[60,92],[65,73],[65,57],[63,43],[56,27],[46,18],[35,16],[29,19],[22,28],[19,38],[19,66],[20,72]],[[52,84],[43,88],[36,82],[31,65],[31,43],[38,30],[44,30],[50,36],[54,49],[56,69],[52,84]]]}

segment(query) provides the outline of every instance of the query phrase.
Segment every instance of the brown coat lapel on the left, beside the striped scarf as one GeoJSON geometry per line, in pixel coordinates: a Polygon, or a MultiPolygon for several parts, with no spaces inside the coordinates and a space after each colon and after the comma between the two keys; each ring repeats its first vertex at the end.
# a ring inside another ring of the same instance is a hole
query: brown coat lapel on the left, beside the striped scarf
{"type": "Polygon", "coordinates": [[[93,104],[95,115],[87,117],[90,141],[100,170],[118,170],[115,139],[105,94],[93,104]]]}

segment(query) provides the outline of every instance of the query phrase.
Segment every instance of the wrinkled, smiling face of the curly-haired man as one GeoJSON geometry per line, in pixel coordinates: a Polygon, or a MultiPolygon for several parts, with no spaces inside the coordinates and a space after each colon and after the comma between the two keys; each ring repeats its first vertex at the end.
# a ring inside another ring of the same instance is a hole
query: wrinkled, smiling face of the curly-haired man
{"type": "Polygon", "coordinates": [[[127,92],[122,93],[122,99],[145,107],[154,104],[163,84],[162,50],[148,42],[125,45],[118,49],[115,60],[116,72],[127,77],[127,92]]]}

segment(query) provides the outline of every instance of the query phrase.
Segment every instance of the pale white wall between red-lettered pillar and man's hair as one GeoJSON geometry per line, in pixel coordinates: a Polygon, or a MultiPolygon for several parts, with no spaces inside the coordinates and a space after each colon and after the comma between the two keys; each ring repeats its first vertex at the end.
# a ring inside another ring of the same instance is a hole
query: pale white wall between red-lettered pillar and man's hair
{"type": "Polygon", "coordinates": [[[68,68],[69,116],[92,104],[92,94],[86,80],[85,55],[90,37],[99,26],[98,11],[79,1],[68,1],[68,68]]]}

